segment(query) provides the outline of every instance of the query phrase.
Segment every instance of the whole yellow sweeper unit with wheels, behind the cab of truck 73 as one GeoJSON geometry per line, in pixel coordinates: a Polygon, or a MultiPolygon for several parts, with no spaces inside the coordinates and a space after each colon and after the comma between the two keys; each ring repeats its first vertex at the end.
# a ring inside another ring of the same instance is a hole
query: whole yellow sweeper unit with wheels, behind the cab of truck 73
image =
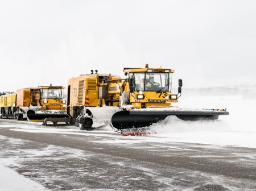
{"type": "Polygon", "coordinates": [[[111,74],[82,74],[71,78],[67,89],[67,114],[71,118],[46,118],[43,125],[69,123],[92,130],[93,123],[106,124],[119,111],[121,77],[111,74]]]}

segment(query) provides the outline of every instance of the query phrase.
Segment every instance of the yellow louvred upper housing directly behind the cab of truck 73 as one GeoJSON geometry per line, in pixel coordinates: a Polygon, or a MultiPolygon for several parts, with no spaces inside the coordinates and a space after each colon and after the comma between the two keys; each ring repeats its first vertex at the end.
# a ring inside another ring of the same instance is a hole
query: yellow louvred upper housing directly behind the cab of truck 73
{"type": "Polygon", "coordinates": [[[111,74],[82,74],[71,78],[68,82],[68,113],[73,114],[73,107],[97,107],[102,105],[118,105],[120,89],[116,83],[106,84],[109,80],[121,80],[111,74]],[[116,100],[116,102],[111,102],[116,100]]]}

